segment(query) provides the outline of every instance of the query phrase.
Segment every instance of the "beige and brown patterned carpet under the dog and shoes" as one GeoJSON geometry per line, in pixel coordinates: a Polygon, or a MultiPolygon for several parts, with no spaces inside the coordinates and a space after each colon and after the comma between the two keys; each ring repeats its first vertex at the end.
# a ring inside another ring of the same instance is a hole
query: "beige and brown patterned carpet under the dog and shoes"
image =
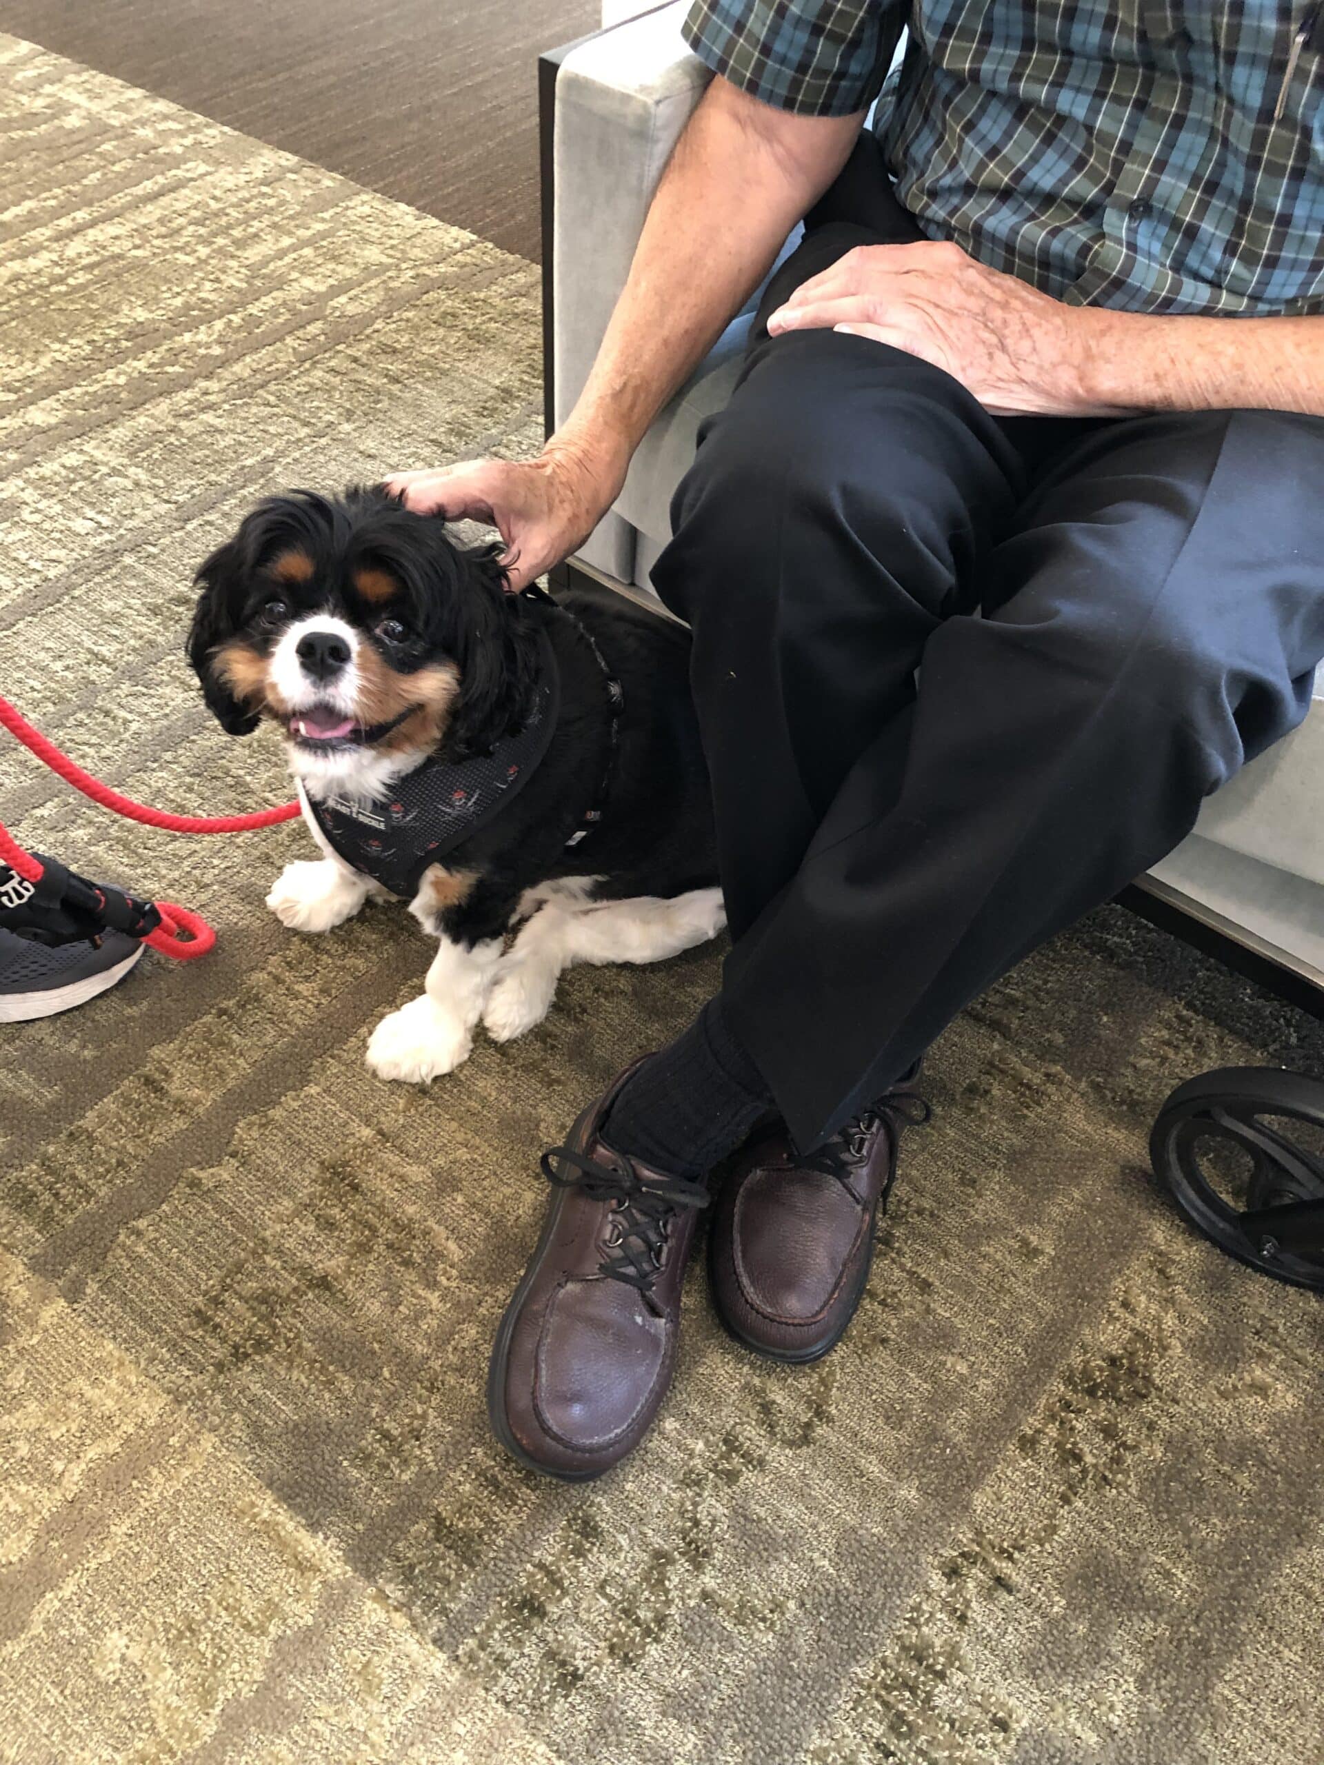
{"type": "MultiPolygon", "coordinates": [[[[537,438],[531,268],[0,37],[0,678],[177,808],[274,801],[180,658],[260,491],[537,438]]],[[[427,946],[263,909],[297,828],[129,828],[0,748],[21,837],[196,904],[0,1031],[7,1765],[1320,1765],[1319,1301],[1199,1243],[1144,1135],[1179,1078],[1320,1070],[1319,1025],[1116,909],[932,1057],[853,1334],[733,1347],[590,1488],[517,1470],[487,1343],[535,1154],[704,997],[577,971],[429,1093],[364,1043],[427,946]]]]}

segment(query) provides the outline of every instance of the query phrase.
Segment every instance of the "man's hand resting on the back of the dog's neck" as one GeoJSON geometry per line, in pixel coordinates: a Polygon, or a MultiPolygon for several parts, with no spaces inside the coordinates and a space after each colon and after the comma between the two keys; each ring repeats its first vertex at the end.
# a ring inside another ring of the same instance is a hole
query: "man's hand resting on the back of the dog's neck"
{"type": "Polygon", "coordinates": [[[484,521],[498,530],[496,560],[512,593],[568,558],[616,501],[620,477],[590,466],[572,448],[547,447],[526,464],[477,459],[436,471],[401,471],[387,489],[417,515],[484,521]]]}

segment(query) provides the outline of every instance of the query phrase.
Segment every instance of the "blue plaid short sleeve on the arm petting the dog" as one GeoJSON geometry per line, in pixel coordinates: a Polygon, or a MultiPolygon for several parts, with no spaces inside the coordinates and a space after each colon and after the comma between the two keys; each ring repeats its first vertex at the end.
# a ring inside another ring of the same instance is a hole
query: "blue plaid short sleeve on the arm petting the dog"
{"type": "Polygon", "coordinates": [[[801,116],[867,109],[904,25],[902,0],[694,0],[681,26],[704,67],[801,116]]]}

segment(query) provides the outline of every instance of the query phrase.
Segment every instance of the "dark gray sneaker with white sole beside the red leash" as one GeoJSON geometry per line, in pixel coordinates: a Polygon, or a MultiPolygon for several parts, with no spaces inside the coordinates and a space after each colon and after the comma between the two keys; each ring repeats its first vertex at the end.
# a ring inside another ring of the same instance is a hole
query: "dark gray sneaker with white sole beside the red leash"
{"type": "Polygon", "coordinates": [[[87,1004],[122,980],[159,916],[147,902],[102,890],[42,858],[28,882],[0,865],[0,1024],[25,1024],[87,1004]],[[108,918],[132,925],[134,934],[108,918]]]}

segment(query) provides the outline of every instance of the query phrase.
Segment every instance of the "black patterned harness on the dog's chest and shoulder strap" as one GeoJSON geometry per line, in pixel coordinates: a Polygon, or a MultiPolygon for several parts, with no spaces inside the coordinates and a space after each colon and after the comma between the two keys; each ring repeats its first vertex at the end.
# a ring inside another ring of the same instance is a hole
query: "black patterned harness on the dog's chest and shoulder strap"
{"type": "MultiPolygon", "coordinates": [[[[530,598],[551,600],[542,593],[530,598]]],[[[611,704],[611,732],[602,785],[579,828],[565,842],[567,851],[579,845],[602,821],[625,706],[621,683],[607,667],[593,635],[577,620],[574,623],[602,669],[611,704]]],[[[429,865],[441,863],[519,796],[547,754],[561,702],[561,672],[545,628],[538,632],[538,644],[540,680],[533,710],[524,727],[501,736],[489,754],[475,754],[466,761],[433,755],[397,778],[388,798],[372,803],[304,794],[309,814],[334,852],[392,895],[411,900],[429,865]]]]}

